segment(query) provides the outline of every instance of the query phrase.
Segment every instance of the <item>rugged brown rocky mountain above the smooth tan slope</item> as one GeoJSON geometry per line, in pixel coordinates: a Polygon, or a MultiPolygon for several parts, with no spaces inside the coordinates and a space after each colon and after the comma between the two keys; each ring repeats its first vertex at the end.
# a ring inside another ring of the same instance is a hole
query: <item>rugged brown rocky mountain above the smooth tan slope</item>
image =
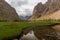
{"type": "Polygon", "coordinates": [[[45,4],[40,2],[35,6],[30,20],[40,19],[40,17],[58,10],[60,10],[60,0],[48,0],[45,4]]]}

